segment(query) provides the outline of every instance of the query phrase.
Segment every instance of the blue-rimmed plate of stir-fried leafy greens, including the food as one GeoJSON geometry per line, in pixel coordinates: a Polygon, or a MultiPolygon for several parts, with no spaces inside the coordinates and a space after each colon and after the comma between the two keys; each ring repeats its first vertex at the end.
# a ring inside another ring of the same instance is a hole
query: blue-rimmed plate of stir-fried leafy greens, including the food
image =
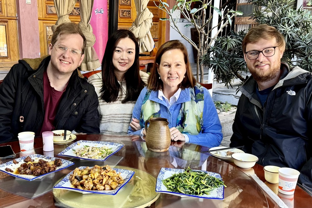
{"type": "Polygon", "coordinates": [[[224,199],[224,187],[220,174],[189,167],[161,168],[156,182],[156,192],[205,199],[224,199]]]}

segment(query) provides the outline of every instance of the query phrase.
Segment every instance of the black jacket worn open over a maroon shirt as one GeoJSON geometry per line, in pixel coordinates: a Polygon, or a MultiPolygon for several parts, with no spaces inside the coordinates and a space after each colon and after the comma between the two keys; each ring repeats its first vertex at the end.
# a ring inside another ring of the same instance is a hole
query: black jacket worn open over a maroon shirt
{"type": "MultiPolygon", "coordinates": [[[[17,133],[22,131],[41,136],[37,133],[41,131],[45,113],[42,78],[50,56],[25,60],[15,64],[0,85],[0,142],[17,140],[17,133]]],[[[55,129],[99,133],[98,97],[93,85],[79,74],[78,70],[72,73],[62,95],[55,129]]]]}

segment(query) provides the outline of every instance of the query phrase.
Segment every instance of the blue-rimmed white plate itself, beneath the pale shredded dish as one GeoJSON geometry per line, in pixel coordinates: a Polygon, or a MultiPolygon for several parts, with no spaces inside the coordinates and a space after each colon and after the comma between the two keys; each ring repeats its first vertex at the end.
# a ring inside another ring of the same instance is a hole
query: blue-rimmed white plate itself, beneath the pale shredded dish
{"type": "Polygon", "coordinates": [[[57,155],[58,156],[75,157],[75,158],[79,158],[79,159],[83,159],[83,160],[105,161],[108,157],[112,156],[117,151],[119,151],[122,146],[124,146],[124,145],[123,144],[119,144],[119,143],[114,143],[114,142],[108,142],[108,141],[85,141],[85,140],[80,140],[80,141],[76,141],[75,143],[71,144],[65,150],[61,151],[57,155]],[[73,151],[73,149],[76,150],[78,148],[83,147],[84,145],[95,146],[95,147],[106,146],[108,148],[112,147],[112,151],[113,152],[110,155],[106,156],[105,158],[99,158],[99,159],[83,158],[83,157],[77,156],[75,151],[73,151]]]}

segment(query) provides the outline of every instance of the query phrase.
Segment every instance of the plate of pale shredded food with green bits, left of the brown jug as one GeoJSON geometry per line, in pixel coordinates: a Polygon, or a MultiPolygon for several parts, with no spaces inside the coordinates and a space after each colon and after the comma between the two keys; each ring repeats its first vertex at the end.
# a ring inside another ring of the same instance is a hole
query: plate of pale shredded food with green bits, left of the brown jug
{"type": "Polygon", "coordinates": [[[124,146],[123,144],[107,141],[80,140],[61,151],[58,156],[69,156],[82,160],[105,161],[124,146]]]}

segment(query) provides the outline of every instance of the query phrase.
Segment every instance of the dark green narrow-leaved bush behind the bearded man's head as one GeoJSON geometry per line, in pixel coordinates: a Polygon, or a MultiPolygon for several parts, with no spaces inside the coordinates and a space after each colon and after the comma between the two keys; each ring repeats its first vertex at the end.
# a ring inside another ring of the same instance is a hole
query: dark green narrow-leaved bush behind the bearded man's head
{"type": "MultiPolygon", "coordinates": [[[[285,37],[286,48],[282,61],[290,66],[298,65],[312,72],[312,16],[302,8],[296,9],[293,0],[251,0],[255,5],[251,18],[259,24],[275,27],[285,37]]],[[[227,37],[220,37],[201,63],[211,67],[218,82],[232,87],[232,80],[245,78],[248,71],[241,50],[241,42],[247,31],[234,32],[227,37]]]]}

